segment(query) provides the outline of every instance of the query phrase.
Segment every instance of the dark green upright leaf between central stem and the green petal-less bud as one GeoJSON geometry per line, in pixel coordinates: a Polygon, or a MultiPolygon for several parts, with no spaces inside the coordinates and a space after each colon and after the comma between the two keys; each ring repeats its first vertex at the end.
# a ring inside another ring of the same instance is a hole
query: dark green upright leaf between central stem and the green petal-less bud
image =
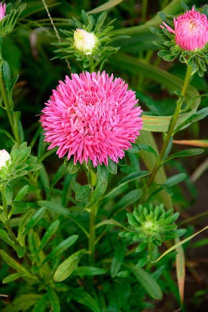
{"type": "Polygon", "coordinates": [[[111,263],[111,277],[114,278],[121,268],[126,252],[126,246],[122,241],[118,241],[115,247],[115,253],[111,263]]]}

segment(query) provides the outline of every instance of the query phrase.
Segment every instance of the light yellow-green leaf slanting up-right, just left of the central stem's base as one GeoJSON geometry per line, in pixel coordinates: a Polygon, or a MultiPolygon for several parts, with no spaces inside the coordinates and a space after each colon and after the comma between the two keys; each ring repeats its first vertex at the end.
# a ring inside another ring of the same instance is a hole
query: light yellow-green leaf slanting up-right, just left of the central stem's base
{"type": "Polygon", "coordinates": [[[62,262],[57,270],[55,271],[53,280],[55,282],[64,281],[69,275],[74,271],[77,264],[79,263],[81,257],[86,254],[87,251],[85,249],[81,249],[75,252],[73,255],[68,257],[64,262],[62,262]]]}

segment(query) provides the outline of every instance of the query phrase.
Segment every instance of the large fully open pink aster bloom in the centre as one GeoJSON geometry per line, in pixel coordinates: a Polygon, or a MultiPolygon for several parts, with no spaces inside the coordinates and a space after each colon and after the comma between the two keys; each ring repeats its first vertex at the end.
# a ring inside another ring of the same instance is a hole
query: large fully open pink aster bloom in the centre
{"type": "Polygon", "coordinates": [[[142,110],[135,92],[121,78],[105,72],[72,74],[59,81],[45,103],[40,122],[45,140],[59,147],[57,154],[74,163],[92,160],[93,165],[123,158],[142,129],[142,110]]]}

